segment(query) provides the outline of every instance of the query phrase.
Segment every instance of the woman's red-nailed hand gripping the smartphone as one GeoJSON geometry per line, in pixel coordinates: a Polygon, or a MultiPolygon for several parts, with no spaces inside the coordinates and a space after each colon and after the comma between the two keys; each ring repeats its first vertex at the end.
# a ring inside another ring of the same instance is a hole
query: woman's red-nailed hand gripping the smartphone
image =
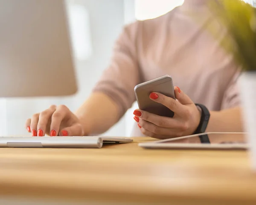
{"type": "Polygon", "coordinates": [[[158,116],[139,109],[134,111],[134,120],[138,122],[143,134],[157,139],[166,139],[186,136],[195,132],[201,119],[201,112],[178,87],[175,87],[175,96],[177,100],[160,93],[151,93],[149,96],[151,100],[172,110],[175,113],[172,118],[158,116]]]}

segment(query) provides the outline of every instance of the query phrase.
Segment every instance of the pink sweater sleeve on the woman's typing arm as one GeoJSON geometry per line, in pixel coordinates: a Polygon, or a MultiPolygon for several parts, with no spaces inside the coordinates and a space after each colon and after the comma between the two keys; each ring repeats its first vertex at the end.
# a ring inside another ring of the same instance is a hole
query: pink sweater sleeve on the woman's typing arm
{"type": "Polygon", "coordinates": [[[93,88],[93,92],[102,92],[118,106],[119,119],[136,100],[134,87],[140,83],[140,71],[137,60],[138,22],[123,28],[113,47],[111,62],[93,88]]]}

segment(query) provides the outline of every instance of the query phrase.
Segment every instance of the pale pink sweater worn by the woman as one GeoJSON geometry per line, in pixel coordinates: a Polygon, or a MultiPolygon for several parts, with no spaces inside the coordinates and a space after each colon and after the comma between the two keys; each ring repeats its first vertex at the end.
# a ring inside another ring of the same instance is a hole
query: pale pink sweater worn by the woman
{"type": "Polygon", "coordinates": [[[226,32],[205,2],[186,0],[161,17],[125,26],[93,89],[116,102],[119,117],[136,100],[135,85],[165,74],[209,110],[239,105],[238,66],[219,45],[226,32]]]}

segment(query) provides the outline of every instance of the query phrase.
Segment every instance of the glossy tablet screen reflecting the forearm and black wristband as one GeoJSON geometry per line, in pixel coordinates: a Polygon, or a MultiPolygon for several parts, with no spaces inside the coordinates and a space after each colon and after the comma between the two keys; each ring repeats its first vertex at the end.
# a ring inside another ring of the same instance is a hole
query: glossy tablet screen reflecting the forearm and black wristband
{"type": "Polygon", "coordinates": [[[160,143],[193,143],[193,144],[245,144],[247,143],[244,133],[205,133],[182,139],[172,138],[160,143]]]}

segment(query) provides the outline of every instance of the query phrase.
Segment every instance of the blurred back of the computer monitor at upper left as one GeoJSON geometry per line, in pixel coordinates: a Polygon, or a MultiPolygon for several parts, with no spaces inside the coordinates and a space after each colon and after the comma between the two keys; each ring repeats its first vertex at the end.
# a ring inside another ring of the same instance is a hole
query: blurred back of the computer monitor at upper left
{"type": "Polygon", "coordinates": [[[0,0],[0,97],[77,91],[64,0],[0,0]]]}

